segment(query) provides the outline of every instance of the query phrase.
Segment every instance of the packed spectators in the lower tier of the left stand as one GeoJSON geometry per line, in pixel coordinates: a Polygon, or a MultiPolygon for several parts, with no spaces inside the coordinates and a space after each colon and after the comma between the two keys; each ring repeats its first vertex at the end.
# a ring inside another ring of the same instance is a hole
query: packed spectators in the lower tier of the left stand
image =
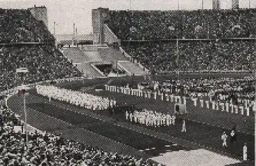
{"type": "Polygon", "coordinates": [[[4,46],[0,48],[1,90],[22,83],[80,76],[81,73],[54,46],[4,46]],[[17,74],[16,69],[26,67],[28,73],[17,74]]]}

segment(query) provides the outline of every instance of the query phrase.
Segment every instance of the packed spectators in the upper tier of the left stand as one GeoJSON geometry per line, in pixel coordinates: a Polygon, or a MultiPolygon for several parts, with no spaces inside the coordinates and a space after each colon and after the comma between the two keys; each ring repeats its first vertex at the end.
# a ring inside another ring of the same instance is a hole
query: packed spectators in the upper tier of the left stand
{"type": "Polygon", "coordinates": [[[0,8],[0,43],[54,41],[44,22],[35,19],[29,10],[0,8]]]}

